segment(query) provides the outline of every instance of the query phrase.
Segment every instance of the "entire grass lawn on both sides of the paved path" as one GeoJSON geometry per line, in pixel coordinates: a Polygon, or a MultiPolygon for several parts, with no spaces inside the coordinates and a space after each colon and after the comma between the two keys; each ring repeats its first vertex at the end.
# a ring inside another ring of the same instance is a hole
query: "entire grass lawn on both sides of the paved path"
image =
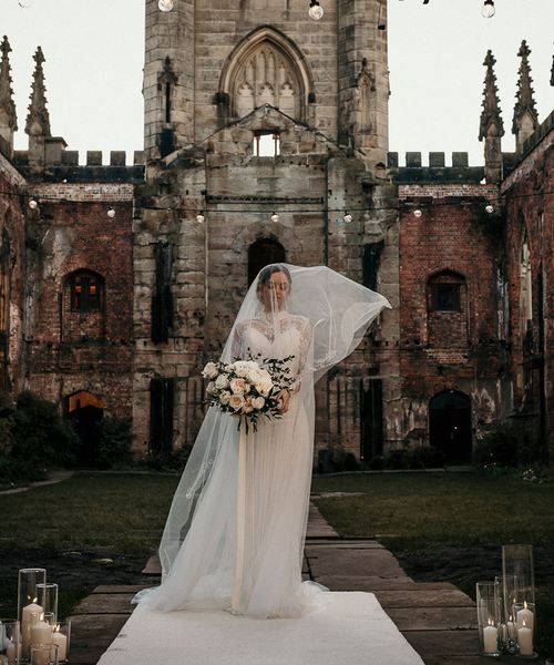
{"type": "MultiPolygon", "coordinates": [[[[20,567],[60,584],[60,616],[98,584],[136,583],[156,549],[177,477],[80,473],[0,494],[0,616],[17,611],[20,567]]],[[[538,647],[554,655],[554,483],[514,474],[382,473],[318,477],[315,499],[345,536],[377,535],[417,580],[448,580],[472,594],[502,573],[501,545],[535,548],[538,647]]]]}

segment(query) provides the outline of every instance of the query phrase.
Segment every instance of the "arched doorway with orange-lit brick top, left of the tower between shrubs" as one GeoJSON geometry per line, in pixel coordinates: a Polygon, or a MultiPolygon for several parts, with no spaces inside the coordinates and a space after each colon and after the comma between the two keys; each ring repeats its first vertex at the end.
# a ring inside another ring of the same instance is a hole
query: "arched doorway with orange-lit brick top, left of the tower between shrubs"
{"type": "Polygon", "coordinates": [[[100,423],[106,405],[104,400],[86,390],[79,390],[66,398],[65,411],[81,439],[76,463],[95,467],[99,459],[100,423]]]}

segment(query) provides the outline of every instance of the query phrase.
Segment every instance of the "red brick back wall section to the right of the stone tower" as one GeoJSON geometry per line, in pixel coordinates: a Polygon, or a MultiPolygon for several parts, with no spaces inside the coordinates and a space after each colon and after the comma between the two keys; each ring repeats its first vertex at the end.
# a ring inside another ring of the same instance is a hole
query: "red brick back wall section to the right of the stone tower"
{"type": "Polygon", "coordinates": [[[433,184],[399,190],[402,437],[428,441],[429,402],[449,390],[471,398],[479,434],[505,415],[509,393],[497,287],[503,231],[499,214],[484,209],[497,190],[433,184]],[[450,203],[461,195],[462,202],[450,203]],[[454,289],[458,300],[434,301],[435,287],[447,297],[454,289]]]}

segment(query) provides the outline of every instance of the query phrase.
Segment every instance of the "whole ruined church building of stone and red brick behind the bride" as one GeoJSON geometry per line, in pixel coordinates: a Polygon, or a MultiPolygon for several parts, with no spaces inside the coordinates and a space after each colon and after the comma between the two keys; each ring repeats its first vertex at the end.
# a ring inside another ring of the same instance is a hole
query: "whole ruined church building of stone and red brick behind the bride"
{"type": "Polygon", "coordinates": [[[137,456],[192,443],[201,370],[249,279],[326,264],[392,309],[318,383],[316,456],[431,443],[466,463],[502,421],[552,456],[553,116],[502,153],[489,54],[484,166],[460,152],[399,166],[382,2],[326,0],[317,23],[285,0],[145,9],[133,164],[89,151],[79,166],[39,98],[43,135],[13,152],[0,86],[2,387],[131,416],[137,456]]]}

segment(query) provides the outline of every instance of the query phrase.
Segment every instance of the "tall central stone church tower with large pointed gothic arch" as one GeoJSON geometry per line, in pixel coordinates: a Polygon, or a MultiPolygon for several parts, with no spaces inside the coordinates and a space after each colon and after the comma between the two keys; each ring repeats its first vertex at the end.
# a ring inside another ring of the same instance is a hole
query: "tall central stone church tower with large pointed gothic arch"
{"type": "Polygon", "coordinates": [[[317,446],[394,440],[398,223],[386,0],[146,0],[134,218],[137,451],[192,443],[199,371],[267,263],[326,264],[391,301],[318,387],[317,446]],[[217,8],[216,8],[217,7],[217,8]],[[383,407],[383,405],[387,405],[383,407]]]}

